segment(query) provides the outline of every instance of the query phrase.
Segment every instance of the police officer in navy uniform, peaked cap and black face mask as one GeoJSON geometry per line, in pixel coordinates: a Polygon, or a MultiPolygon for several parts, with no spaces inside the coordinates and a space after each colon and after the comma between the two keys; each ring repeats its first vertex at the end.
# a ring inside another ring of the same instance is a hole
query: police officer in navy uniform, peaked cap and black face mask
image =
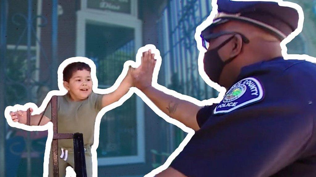
{"type": "Polygon", "coordinates": [[[158,108],[196,131],[157,176],[316,176],[316,66],[284,60],[280,47],[298,12],[275,2],[217,4],[201,37],[204,71],[228,90],[219,104],[199,107],[153,88],[150,51],[132,73],[158,108]]]}

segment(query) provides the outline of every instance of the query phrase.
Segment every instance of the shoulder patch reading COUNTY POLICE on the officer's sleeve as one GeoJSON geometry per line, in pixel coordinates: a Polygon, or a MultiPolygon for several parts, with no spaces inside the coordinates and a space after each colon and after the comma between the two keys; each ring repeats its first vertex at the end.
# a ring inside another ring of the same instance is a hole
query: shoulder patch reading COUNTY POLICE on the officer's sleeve
{"type": "Polygon", "coordinates": [[[213,114],[227,113],[240,107],[261,101],[264,90],[258,79],[247,77],[235,83],[215,107],[213,114]]]}

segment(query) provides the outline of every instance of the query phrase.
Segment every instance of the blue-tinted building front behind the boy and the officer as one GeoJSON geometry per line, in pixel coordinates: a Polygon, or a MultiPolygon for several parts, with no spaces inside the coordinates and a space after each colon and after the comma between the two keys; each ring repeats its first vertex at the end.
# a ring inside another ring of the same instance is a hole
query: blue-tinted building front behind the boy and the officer
{"type": "MultiPolygon", "coordinates": [[[[315,1],[302,6],[302,33],[289,54],[316,56],[315,1]]],[[[194,33],[211,11],[210,0],[2,0],[0,111],[41,105],[57,88],[57,69],[84,56],[97,66],[99,88],[113,85],[137,49],[161,52],[158,83],[199,100],[216,97],[197,70],[194,33]]],[[[0,122],[0,174],[42,176],[47,132],[27,132],[0,122]]],[[[143,176],[164,163],[186,133],[157,116],[136,94],[101,120],[99,176],[143,176]]]]}

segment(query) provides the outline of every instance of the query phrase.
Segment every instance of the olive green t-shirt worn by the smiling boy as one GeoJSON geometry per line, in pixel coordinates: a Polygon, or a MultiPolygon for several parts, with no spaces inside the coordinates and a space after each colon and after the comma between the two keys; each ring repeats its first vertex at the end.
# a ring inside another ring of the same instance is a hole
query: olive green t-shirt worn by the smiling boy
{"type": "MultiPolygon", "coordinates": [[[[67,93],[57,97],[58,133],[82,133],[84,146],[91,146],[94,138],[94,123],[102,109],[102,94],[91,93],[87,99],[73,101],[67,93]]],[[[51,119],[51,104],[44,114],[51,119]]],[[[65,149],[73,148],[72,139],[58,140],[58,146],[65,149]]]]}

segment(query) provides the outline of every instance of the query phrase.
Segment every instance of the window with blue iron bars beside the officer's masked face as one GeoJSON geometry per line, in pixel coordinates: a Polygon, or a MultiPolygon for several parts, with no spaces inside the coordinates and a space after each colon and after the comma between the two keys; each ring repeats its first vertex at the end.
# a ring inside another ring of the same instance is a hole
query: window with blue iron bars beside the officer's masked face
{"type": "MultiPolygon", "coordinates": [[[[198,72],[199,51],[194,34],[210,14],[211,1],[168,1],[160,22],[162,65],[165,71],[165,86],[198,100],[217,97],[217,91],[207,85],[198,72]]],[[[182,142],[185,132],[170,124],[170,152],[182,142]],[[176,128],[173,130],[173,128],[176,128]],[[175,137],[175,138],[174,138],[175,137]]]]}

